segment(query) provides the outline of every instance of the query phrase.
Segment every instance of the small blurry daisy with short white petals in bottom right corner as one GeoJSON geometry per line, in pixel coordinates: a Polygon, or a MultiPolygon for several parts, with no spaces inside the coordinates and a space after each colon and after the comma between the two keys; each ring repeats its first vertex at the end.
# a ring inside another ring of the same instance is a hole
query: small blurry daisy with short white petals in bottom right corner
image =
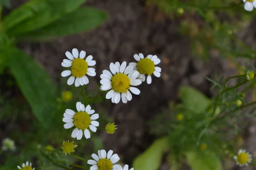
{"type": "Polygon", "coordinates": [[[236,156],[233,157],[233,159],[236,160],[236,164],[238,164],[240,167],[248,166],[252,159],[252,155],[248,152],[246,152],[246,150],[242,150],[240,149],[237,153],[236,156]]]}

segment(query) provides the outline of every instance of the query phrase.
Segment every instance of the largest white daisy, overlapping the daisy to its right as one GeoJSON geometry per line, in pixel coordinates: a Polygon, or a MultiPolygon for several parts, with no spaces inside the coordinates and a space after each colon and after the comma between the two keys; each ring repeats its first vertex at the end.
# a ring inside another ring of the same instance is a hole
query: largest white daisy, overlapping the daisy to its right
{"type": "Polygon", "coordinates": [[[140,94],[140,90],[138,88],[131,87],[140,85],[142,81],[137,79],[139,76],[138,71],[133,71],[134,67],[127,66],[126,62],[122,62],[120,65],[119,62],[115,64],[113,62],[110,63],[110,71],[103,70],[100,75],[100,89],[102,91],[110,90],[107,95],[106,99],[111,99],[112,103],[119,103],[120,99],[122,99],[123,103],[127,103],[127,101],[131,101],[131,93],[133,94],[140,94]],[[112,74],[113,75],[112,75],[112,74]],[[130,91],[128,91],[130,90],[130,91]]]}

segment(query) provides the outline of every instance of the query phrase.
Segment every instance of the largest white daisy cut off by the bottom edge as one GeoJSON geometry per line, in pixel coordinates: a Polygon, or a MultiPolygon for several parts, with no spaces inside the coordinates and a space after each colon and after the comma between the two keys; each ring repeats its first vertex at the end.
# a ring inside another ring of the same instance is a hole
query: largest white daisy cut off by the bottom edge
{"type": "Polygon", "coordinates": [[[87,164],[93,165],[90,167],[90,170],[116,170],[117,164],[119,161],[119,156],[113,150],[109,150],[108,154],[106,150],[98,150],[98,155],[95,153],[92,154],[94,160],[90,159],[87,161],[87,164]]]}

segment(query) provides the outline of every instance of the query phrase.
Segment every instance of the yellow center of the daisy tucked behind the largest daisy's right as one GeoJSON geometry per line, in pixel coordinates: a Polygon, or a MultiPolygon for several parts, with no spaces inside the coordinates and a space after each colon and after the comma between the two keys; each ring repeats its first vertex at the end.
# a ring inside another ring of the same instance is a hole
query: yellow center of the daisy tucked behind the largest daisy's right
{"type": "Polygon", "coordinates": [[[140,74],[151,75],[154,73],[154,62],[151,59],[144,58],[137,63],[137,71],[140,74]]]}

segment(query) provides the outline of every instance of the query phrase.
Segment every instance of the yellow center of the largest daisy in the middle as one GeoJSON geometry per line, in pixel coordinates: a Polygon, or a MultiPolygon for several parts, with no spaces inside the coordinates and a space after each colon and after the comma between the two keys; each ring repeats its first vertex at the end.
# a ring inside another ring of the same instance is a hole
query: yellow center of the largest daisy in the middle
{"type": "Polygon", "coordinates": [[[131,81],[129,77],[123,73],[117,73],[111,78],[111,86],[114,91],[124,93],[129,90],[131,81]]]}

